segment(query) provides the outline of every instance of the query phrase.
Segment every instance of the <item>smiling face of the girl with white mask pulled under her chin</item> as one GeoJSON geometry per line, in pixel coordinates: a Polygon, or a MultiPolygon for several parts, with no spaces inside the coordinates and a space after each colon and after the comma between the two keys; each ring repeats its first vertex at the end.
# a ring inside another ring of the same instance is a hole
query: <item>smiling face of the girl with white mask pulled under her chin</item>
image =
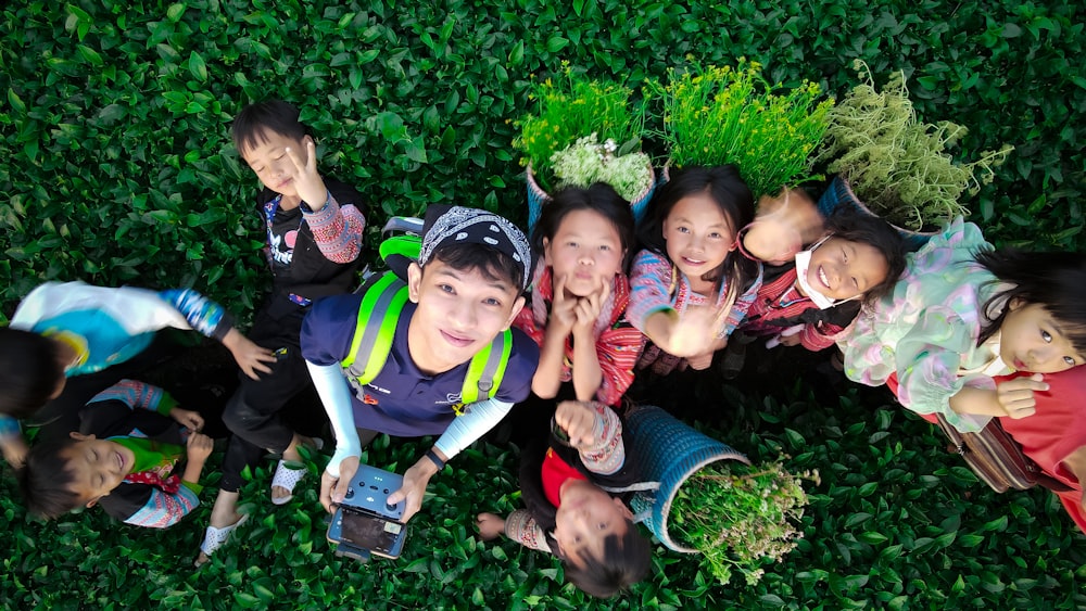
{"type": "Polygon", "coordinates": [[[831,237],[811,252],[807,282],[828,297],[848,300],[876,287],[888,273],[886,257],[871,244],[831,237]]]}

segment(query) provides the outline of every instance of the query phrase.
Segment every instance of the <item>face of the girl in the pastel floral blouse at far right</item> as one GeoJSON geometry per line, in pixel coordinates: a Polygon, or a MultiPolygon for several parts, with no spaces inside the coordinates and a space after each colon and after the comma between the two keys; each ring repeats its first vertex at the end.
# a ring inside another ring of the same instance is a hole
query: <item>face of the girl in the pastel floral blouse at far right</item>
{"type": "Polygon", "coordinates": [[[1086,362],[1060,322],[1040,304],[1012,301],[999,327],[999,356],[1018,371],[1056,373],[1086,362]]]}

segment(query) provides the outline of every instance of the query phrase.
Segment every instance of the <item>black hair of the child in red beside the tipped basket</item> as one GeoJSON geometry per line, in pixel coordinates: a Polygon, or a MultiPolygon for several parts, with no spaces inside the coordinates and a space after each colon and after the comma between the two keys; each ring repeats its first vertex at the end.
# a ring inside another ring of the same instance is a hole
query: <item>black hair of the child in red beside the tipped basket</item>
{"type": "Polygon", "coordinates": [[[626,534],[607,535],[604,557],[581,553],[581,565],[563,558],[566,578],[596,598],[610,598],[645,578],[653,561],[653,550],[633,521],[626,521],[626,534]]]}

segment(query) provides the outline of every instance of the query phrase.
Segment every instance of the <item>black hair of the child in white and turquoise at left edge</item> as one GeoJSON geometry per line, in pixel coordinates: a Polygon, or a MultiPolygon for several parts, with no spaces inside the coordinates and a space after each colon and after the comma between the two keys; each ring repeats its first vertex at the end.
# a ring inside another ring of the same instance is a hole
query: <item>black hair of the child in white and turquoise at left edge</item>
{"type": "Polygon", "coordinates": [[[60,353],[55,340],[0,327],[0,413],[26,418],[49,402],[64,379],[60,353]]]}

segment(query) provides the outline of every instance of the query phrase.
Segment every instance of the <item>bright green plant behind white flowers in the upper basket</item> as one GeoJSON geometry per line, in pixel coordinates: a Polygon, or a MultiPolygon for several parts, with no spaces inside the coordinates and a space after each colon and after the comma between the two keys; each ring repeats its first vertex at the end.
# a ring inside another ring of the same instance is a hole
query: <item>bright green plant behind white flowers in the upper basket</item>
{"type": "Polygon", "coordinates": [[[618,143],[617,156],[640,150],[645,109],[643,102],[633,102],[632,96],[629,87],[588,79],[565,62],[560,77],[534,85],[531,97],[539,104],[539,113],[516,122],[520,136],[513,145],[523,153],[521,163],[531,165],[543,190],[557,187],[553,174],[555,153],[578,139],[595,135],[601,142],[613,140],[618,143]]]}

